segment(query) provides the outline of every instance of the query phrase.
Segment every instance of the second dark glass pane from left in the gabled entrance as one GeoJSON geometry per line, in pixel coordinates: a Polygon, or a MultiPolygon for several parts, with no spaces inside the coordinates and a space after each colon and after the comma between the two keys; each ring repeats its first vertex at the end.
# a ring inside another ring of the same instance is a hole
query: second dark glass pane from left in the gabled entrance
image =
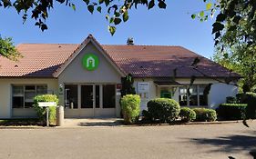
{"type": "Polygon", "coordinates": [[[81,108],[93,108],[93,85],[81,86],[81,108]]]}

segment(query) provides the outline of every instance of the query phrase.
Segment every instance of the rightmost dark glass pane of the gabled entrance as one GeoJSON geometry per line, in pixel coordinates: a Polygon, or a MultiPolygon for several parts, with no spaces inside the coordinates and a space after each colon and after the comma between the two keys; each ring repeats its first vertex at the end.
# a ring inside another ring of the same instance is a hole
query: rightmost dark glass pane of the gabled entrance
{"type": "Polygon", "coordinates": [[[103,85],[103,108],[116,107],[116,85],[104,84],[103,85]]]}

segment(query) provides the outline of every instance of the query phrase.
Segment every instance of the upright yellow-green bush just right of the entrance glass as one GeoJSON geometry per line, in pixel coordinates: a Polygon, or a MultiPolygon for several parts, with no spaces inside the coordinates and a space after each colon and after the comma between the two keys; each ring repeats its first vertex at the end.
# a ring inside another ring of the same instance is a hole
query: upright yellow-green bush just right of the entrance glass
{"type": "Polygon", "coordinates": [[[140,97],[137,94],[127,94],[121,98],[121,108],[126,124],[138,122],[140,97]]]}

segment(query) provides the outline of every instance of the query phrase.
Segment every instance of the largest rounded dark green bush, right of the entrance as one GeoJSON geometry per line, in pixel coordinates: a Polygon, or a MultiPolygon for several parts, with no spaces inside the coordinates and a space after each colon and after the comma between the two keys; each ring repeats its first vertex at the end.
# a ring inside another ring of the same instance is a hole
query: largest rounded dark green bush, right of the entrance
{"type": "Polygon", "coordinates": [[[169,123],[174,121],[180,111],[179,103],[169,98],[156,98],[148,102],[148,113],[144,116],[151,122],[169,123]]]}

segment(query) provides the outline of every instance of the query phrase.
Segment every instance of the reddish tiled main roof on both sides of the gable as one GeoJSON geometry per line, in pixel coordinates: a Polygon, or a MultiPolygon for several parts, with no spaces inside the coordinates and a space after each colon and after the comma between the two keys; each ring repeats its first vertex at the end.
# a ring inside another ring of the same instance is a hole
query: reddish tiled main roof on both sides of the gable
{"type": "MultiPolygon", "coordinates": [[[[24,56],[18,62],[0,57],[0,76],[53,77],[57,68],[65,63],[77,49],[76,44],[22,44],[17,50],[24,56]]],[[[169,77],[177,70],[177,77],[191,75],[203,77],[239,77],[209,59],[180,46],[163,45],[102,45],[118,67],[134,77],[169,77]],[[198,69],[190,65],[200,58],[198,69]]]]}

